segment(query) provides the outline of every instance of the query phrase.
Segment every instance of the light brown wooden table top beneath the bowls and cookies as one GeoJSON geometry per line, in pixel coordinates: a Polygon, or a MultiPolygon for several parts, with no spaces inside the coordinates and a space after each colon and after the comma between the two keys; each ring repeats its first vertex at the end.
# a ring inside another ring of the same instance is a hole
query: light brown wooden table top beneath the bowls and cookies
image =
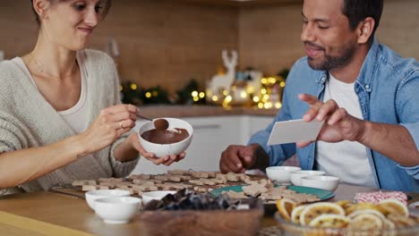
{"type": "MultiPolygon", "coordinates": [[[[356,192],[375,189],[341,184],[331,200],[353,199],[356,192]]],[[[408,193],[419,200],[419,193],[408,193]]],[[[262,227],[275,225],[272,216],[262,227]]],[[[84,199],[52,192],[16,194],[0,198],[0,234],[21,235],[142,235],[140,215],[131,223],[104,223],[84,199]]]]}

